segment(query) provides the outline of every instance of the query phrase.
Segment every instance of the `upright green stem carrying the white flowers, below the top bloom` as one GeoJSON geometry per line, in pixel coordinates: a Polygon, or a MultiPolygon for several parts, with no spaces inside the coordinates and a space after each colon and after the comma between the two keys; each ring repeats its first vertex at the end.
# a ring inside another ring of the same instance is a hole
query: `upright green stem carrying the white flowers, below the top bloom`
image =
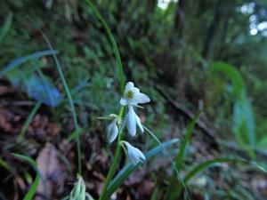
{"type": "MultiPolygon", "coordinates": [[[[124,107],[121,107],[119,110],[118,116],[122,117],[123,113],[124,113],[124,107]]],[[[111,179],[112,179],[112,177],[116,171],[116,167],[117,167],[117,164],[119,162],[119,156],[120,156],[120,152],[121,152],[121,146],[120,146],[121,140],[123,140],[123,135],[122,135],[122,130],[121,130],[121,126],[120,126],[119,131],[118,131],[118,135],[117,135],[117,147],[115,150],[115,156],[114,156],[113,162],[110,166],[108,176],[107,176],[107,179],[105,181],[105,184],[104,184],[104,187],[102,189],[101,196],[100,196],[99,200],[104,200],[104,195],[105,195],[107,189],[109,188],[110,181],[111,181],[111,179]]],[[[105,196],[105,197],[107,197],[107,196],[105,196]]],[[[110,196],[108,196],[107,199],[109,199],[109,197],[110,196]]]]}

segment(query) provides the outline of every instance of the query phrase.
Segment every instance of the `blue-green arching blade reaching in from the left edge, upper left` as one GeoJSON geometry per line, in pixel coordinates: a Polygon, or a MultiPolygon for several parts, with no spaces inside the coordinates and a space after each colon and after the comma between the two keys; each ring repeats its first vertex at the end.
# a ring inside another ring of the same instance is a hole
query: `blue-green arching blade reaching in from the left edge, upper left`
{"type": "Polygon", "coordinates": [[[55,50],[44,50],[44,51],[34,52],[34,53],[31,53],[31,54],[28,54],[27,56],[20,57],[19,59],[13,60],[12,63],[10,63],[9,65],[5,66],[0,71],[0,76],[4,76],[5,73],[9,72],[13,68],[19,67],[21,64],[23,64],[24,62],[26,62],[28,60],[38,59],[38,58],[41,58],[41,57],[44,57],[44,56],[48,56],[48,55],[54,55],[56,53],[58,53],[58,52],[55,51],[55,50]]]}

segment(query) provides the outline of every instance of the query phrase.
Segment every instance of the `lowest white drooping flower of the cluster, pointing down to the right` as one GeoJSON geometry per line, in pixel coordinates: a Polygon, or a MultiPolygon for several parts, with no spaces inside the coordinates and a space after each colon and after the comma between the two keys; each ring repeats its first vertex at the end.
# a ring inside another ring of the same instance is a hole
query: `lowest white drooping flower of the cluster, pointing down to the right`
{"type": "Polygon", "coordinates": [[[125,144],[127,156],[133,164],[143,163],[146,160],[146,157],[139,148],[134,148],[134,146],[127,141],[122,141],[122,144],[125,144]]]}

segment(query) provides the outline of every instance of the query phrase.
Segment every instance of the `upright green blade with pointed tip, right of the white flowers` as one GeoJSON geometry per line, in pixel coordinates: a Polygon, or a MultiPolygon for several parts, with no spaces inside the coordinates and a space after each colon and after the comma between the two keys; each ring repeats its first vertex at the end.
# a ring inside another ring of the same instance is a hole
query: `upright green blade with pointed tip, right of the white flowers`
{"type": "MultiPolygon", "coordinates": [[[[182,170],[182,161],[183,157],[185,155],[185,149],[190,142],[191,135],[193,133],[193,130],[195,128],[195,125],[197,124],[198,118],[200,116],[201,112],[199,112],[194,118],[191,120],[189,127],[187,128],[185,132],[184,139],[181,142],[181,147],[179,149],[179,153],[175,160],[175,167],[177,168],[177,172],[180,172],[182,170]]],[[[168,188],[166,190],[166,199],[174,199],[175,194],[175,177],[176,177],[176,171],[173,172],[171,180],[169,182],[168,188]]]]}

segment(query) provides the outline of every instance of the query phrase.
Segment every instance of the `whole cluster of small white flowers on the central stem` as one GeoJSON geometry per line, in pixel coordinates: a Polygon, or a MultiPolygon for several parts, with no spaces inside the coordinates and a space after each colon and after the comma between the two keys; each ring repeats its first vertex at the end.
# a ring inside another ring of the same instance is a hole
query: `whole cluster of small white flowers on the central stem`
{"type": "MultiPolygon", "coordinates": [[[[136,115],[134,108],[138,108],[140,107],[139,104],[147,102],[150,102],[150,98],[146,94],[140,92],[137,87],[134,87],[134,83],[128,82],[125,85],[125,92],[120,100],[120,104],[128,108],[127,114],[122,124],[120,117],[115,114],[110,114],[106,117],[106,119],[112,121],[107,128],[107,138],[109,142],[116,140],[117,134],[119,134],[119,132],[122,132],[125,125],[129,134],[132,136],[136,134],[137,125],[140,128],[141,132],[144,132],[141,120],[139,116],[136,115]]],[[[133,164],[139,164],[145,161],[145,156],[142,154],[142,151],[140,149],[135,148],[125,140],[121,141],[121,145],[125,149],[129,160],[133,164]]]]}

